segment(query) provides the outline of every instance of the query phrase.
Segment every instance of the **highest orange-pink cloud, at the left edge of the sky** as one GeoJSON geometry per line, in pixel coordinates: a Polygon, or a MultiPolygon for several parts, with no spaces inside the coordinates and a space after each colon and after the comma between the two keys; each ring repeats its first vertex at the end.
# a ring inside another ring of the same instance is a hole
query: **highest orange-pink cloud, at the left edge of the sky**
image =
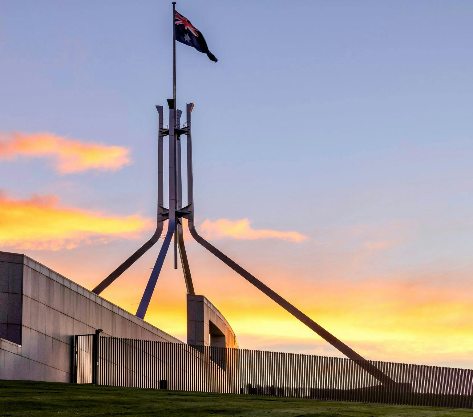
{"type": "Polygon", "coordinates": [[[131,163],[130,150],[121,146],[82,143],[53,133],[0,134],[0,159],[18,155],[51,157],[62,174],[89,169],[118,170],[131,163]]]}

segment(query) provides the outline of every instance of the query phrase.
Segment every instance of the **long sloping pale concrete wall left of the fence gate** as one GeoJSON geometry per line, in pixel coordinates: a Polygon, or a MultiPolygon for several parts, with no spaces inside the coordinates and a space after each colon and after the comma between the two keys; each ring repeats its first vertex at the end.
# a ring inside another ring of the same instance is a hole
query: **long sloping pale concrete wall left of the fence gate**
{"type": "Polygon", "coordinates": [[[28,256],[0,252],[0,379],[72,381],[73,336],[182,343],[28,256]]]}

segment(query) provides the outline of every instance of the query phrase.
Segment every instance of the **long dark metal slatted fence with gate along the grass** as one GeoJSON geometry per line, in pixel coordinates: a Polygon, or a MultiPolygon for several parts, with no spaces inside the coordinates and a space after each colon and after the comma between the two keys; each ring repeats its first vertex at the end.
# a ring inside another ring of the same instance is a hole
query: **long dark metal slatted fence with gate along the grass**
{"type": "Polygon", "coordinates": [[[98,335],[76,336],[76,358],[78,383],[473,408],[471,369],[370,361],[383,385],[346,358],[98,335]]]}

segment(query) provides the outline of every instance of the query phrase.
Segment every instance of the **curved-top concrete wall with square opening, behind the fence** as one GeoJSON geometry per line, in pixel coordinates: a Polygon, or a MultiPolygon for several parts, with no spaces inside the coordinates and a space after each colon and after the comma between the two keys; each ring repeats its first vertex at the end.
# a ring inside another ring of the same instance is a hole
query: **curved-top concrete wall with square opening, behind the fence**
{"type": "Polygon", "coordinates": [[[230,324],[203,295],[187,294],[187,343],[238,348],[235,332],[230,324]]]}

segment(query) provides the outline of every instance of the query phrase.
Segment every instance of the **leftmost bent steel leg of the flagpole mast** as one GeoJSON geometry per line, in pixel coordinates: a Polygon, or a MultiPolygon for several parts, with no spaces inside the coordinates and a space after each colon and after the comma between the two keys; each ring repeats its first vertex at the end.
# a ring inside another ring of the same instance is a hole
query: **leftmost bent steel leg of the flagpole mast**
{"type": "Polygon", "coordinates": [[[133,255],[131,255],[123,264],[114,270],[104,281],[100,282],[93,290],[95,294],[100,294],[112,282],[114,282],[120,275],[123,274],[132,264],[134,264],[142,255],[144,255],[150,247],[152,247],[161,237],[163,232],[163,221],[167,218],[166,210],[163,208],[163,137],[166,136],[166,130],[163,128],[163,106],[156,106],[159,119],[159,133],[158,133],[158,224],[156,230],[151,238],[133,255]]]}

